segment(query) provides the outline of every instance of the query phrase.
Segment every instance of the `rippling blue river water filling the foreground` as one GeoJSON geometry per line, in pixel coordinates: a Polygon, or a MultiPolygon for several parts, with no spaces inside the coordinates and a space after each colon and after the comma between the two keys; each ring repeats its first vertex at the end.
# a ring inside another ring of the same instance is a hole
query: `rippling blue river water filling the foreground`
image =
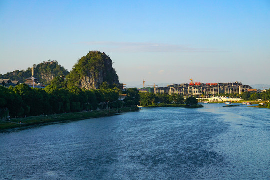
{"type": "Polygon", "coordinates": [[[0,179],[270,179],[270,110],[203,105],[0,131],[0,179]]]}

